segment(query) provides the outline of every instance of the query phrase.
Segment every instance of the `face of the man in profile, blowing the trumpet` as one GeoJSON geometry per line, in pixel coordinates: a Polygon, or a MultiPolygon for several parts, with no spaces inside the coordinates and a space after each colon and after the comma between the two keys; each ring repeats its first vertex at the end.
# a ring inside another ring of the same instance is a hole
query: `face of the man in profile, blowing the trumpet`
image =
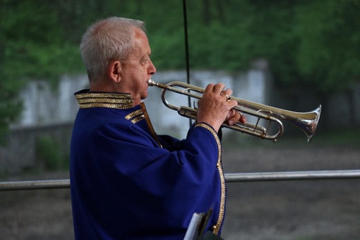
{"type": "Polygon", "coordinates": [[[132,94],[134,105],[138,105],[147,97],[147,80],[156,73],[156,68],[150,60],[151,49],[145,33],[136,30],[135,38],[135,50],[121,64],[119,87],[121,92],[132,94]]]}

